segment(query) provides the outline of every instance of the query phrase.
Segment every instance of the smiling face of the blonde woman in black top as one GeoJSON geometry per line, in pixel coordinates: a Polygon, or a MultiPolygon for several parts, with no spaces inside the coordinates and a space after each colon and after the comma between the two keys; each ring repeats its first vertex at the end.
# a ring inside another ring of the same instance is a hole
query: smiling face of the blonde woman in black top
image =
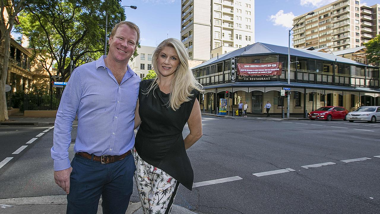
{"type": "Polygon", "coordinates": [[[173,47],[165,46],[158,54],[157,65],[161,77],[173,76],[179,65],[176,50],[173,47]]]}

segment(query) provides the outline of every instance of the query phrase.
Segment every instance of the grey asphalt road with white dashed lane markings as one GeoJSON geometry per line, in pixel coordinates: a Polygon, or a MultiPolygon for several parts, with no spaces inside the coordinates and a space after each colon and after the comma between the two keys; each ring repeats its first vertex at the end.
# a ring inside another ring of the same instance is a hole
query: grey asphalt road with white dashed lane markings
{"type": "MultiPolygon", "coordinates": [[[[380,123],[216,117],[202,123],[203,137],[188,149],[195,187],[181,186],[175,204],[200,214],[380,213],[380,123]]],[[[52,179],[52,131],[33,144],[0,169],[0,198],[63,195],[52,179]]]]}

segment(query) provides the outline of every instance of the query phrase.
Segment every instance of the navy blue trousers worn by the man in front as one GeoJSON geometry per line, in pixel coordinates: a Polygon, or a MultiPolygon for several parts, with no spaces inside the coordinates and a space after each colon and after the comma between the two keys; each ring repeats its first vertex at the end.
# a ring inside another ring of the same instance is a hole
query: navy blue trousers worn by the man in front
{"type": "Polygon", "coordinates": [[[136,170],[131,154],[108,164],[75,155],[71,166],[67,214],[96,214],[100,196],[104,214],[125,214],[136,170]]]}

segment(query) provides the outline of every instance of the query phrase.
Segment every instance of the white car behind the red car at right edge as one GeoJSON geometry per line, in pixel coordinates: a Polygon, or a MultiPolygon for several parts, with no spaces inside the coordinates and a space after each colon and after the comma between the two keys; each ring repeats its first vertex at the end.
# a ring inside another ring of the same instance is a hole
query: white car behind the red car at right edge
{"type": "Polygon", "coordinates": [[[380,120],[380,106],[363,106],[359,107],[353,112],[350,112],[346,116],[347,120],[353,121],[368,121],[375,123],[380,120]]]}

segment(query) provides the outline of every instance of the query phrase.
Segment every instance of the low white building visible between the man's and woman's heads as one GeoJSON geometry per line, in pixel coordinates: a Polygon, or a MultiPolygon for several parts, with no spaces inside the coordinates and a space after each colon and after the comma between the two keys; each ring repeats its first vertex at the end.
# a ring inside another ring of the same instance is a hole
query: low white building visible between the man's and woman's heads
{"type": "Polygon", "coordinates": [[[149,70],[153,69],[152,56],[155,49],[156,47],[141,45],[141,48],[137,49],[139,55],[128,62],[131,69],[137,73],[140,78],[144,78],[149,70]]]}

